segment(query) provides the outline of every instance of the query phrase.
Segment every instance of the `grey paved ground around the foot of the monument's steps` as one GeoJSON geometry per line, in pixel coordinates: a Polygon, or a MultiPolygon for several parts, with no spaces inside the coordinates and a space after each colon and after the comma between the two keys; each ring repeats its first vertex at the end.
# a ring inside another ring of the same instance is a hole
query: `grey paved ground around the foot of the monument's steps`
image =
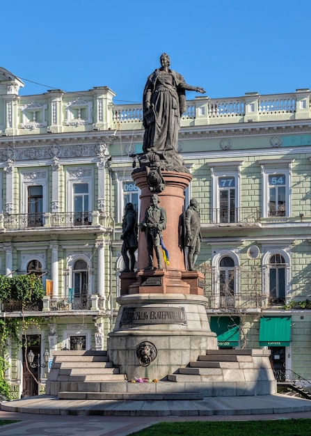
{"type": "Polygon", "coordinates": [[[170,401],[169,405],[166,401],[114,402],[115,412],[118,411],[117,405],[119,412],[122,412],[122,408],[125,410],[125,405],[127,405],[127,412],[131,416],[118,415],[117,413],[114,416],[89,414],[103,412],[105,407],[107,410],[107,407],[111,407],[109,401],[96,401],[97,405],[93,404],[93,407],[89,404],[90,402],[79,401],[79,404],[76,402],[73,405],[74,402],[67,401],[67,407],[64,409],[63,401],[65,400],[57,400],[47,396],[33,397],[1,405],[1,408],[8,408],[8,405],[10,405],[11,410],[20,410],[22,412],[1,410],[0,419],[19,419],[20,422],[0,427],[0,434],[1,436],[126,436],[160,421],[248,421],[258,419],[298,419],[303,417],[311,419],[310,400],[300,400],[286,396],[265,397],[266,401],[262,397],[206,398],[200,402],[179,402],[178,407],[175,401],[170,401]],[[71,404],[71,407],[68,403],[71,404]],[[120,403],[123,403],[122,407],[120,403]],[[203,403],[206,403],[205,408],[202,408],[203,403]],[[214,408],[211,410],[216,414],[202,415],[202,413],[207,412],[207,407],[212,407],[212,405],[214,405],[214,408]],[[266,412],[264,412],[263,406],[266,407],[266,412]],[[168,407],[168,410],[166,407],[168,407]],[[285,407],[287,413],[282,413],[285,407]],[[294,410],[298,409],[301,411],[294,412],[294,410]],[[132,413],[135,414],[137,410],[140,413],[148,413],[148,416],[132,416],[132,413]],[[274,413],[269,413],[268,410],[274,410],[274,413]],[[31,413],[27,411],[31,411],[31,413]],[[68,415],[68,411],[72,414],[68,415]],[[163,413],[162,416],[159,415],[160,411],[163,413]],[[194,414],[195,412],[196,414],[194,414]],[[74,413],[77,413],[77,415],[73,415],[74,413]],[[177,414],[173,415],[174,413],[177,414]],[[154,416],[154,414],[158,414],[158,416],[154,416]],[[180,415],[178,416],[178,414],[180,415]]]}

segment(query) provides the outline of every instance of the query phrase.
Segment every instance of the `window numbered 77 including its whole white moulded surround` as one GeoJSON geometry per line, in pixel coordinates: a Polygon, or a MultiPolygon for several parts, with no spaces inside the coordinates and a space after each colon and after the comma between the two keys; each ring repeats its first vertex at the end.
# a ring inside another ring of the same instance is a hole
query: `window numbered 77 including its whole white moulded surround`
{"type": "Polygon", "coordinates": [[[212,213],[214,223],[240,221],[240,171],[242,162],[212,163],[212,213]]]}

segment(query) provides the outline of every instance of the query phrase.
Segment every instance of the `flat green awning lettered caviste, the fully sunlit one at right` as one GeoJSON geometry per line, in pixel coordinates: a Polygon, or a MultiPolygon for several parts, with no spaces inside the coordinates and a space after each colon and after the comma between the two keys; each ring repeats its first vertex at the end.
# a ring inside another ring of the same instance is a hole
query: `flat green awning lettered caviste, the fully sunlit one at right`
{"type": "Polygon", "coordinates": [[[291,317],[260,318],[260,346],[288,347],[291,341],[291,317]]]}

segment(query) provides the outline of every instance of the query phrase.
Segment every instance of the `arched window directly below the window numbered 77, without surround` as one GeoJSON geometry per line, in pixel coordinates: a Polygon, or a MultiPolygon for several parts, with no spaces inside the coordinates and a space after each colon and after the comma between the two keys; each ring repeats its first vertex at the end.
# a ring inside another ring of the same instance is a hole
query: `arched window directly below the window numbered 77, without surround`
{"type": "Polygon", "coordinates": [[[234,260],[229,256],[221,258],[219,263],[219,286],[221,307],[234,306],[235,274],[234,260]]]}

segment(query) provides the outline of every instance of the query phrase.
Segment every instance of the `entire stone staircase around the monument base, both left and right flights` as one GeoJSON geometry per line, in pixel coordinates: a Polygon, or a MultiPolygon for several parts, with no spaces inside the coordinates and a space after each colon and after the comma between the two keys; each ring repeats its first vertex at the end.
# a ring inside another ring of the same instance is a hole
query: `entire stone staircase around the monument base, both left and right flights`
{"type": "Polygon", "coordinates": [[[46,394],[68,400],[200,400],[276,393],[265,350],[207,350],[165,380],[132,383],[106,351],[57,351],[46,394]]]}

